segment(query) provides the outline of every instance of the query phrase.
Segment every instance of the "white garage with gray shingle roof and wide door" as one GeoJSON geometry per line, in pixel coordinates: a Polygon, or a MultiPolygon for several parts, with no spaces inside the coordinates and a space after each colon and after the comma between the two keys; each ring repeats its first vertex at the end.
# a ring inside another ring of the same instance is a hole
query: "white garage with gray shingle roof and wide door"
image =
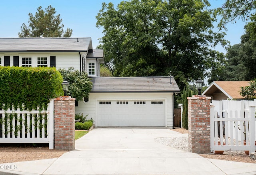
{"type": "Polygon", "coordinates": [[[89,97],[78,102],[76,113],[94,120],[95,127],[172,127],[173,77],[92,77],[89,97]]]}

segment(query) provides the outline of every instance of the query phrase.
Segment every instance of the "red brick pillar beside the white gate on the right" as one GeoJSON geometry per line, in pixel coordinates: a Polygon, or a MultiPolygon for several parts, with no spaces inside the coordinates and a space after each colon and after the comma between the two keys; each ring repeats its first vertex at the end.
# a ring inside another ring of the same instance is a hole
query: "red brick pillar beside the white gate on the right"
{"type": "Polygon", "coordinates": [[[210,153],[211,97],[188,97],[188,149],[193,153],[210,153]]]}

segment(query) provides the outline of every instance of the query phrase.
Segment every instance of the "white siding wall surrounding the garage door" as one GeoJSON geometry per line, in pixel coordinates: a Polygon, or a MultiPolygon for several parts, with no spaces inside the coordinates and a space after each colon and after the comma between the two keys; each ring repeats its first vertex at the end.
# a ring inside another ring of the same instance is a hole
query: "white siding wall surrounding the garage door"
{"type": "MultiPolygon", "coordinates": [[[[78,102],[78,106],[76,107],[76,114],[83,113],[84,116],[88,114],[88,119],[93,118],[96,121],[96,100],[97,99],[104,99],[104,100],[111,100],[111,99],[124,99],[124,100],[153,100],[153,99],[163,99],[166,101],[166,126],[172,126],[172,118],[173,118],[173,105],[172,105],[172,95],[173,93],[168,92],[160,92],[160,93],[132,93],[132,92],[125,92],[125,93],[90,93],[89,101],[88,102],[78,102]]],[[[96,124],[97,126],[97,124],[96,124]]]]}

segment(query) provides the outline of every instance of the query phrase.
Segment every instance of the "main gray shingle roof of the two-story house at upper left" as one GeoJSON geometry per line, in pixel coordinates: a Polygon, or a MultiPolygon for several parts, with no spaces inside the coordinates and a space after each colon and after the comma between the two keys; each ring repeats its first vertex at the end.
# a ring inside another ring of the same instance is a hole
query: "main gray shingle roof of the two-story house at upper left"
{"type": "Polygon", "coordinates": [[[81,51],[92,49],[92,39],[85,38],[0,38],[0,52],[81,51]],[[78,41],[78,42],[77,42],[78,41]]]}

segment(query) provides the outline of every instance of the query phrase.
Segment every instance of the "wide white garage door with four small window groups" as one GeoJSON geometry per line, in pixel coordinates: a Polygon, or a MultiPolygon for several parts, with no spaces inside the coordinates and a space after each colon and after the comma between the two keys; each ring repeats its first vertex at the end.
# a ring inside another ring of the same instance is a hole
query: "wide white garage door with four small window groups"
{"type": "Polygon", "coordinates": [[[165,126],[165,100],[98,100],[96,126],[165,126]]]}

